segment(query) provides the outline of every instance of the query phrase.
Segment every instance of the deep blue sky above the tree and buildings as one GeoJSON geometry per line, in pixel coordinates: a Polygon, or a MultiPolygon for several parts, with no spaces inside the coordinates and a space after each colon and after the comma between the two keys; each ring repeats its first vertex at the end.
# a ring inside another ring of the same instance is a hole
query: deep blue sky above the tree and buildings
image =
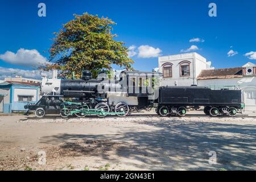
{"type": "Polygon", "coordinates": [[[31,64],[22,64],[10,58],[13,56],[10,52],[19,59],[35,49],[32,53],[47,59],[52,33],[73,19],[73,14],[85,12],[108,16],[117,23],[113,31],[118,35],[116,39],[125,42],[127,47],[136,46],[137,55],[131,58],[137,70],[151,71],[158,67],[157,56],[178,54],[191,46],[196,46],[195,52],[212,61],[215,68],[240,67],[248,61],[256,63],[255,8],[254,0],[1,1],[0,72],[3,68],[34,69],[33,57],[27,60],[31,64]],[[38,16],[40,2],[46,4],[46,17],[38,16]],[[217,17],[208,15],[211,2],[217,5],[217,17]],[[189,42],[192,38],[204,41],[189,42]],[[23,49],[17,56],[20,48],[23,49]],[[228,56],[231,50],[233,56],[228,56]],[[10,51],[9,54],[6,55],[6,51],[10,51]]]}

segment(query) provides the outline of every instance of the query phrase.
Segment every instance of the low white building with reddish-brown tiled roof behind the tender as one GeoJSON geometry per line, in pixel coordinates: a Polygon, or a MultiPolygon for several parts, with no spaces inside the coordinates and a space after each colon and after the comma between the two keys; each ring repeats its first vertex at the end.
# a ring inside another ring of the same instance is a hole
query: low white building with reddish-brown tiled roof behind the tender
{"type": "Polygon", "coordinates": [[[234,86],[242,90],[246,110],[256,110],[256,65],[247,63],[240,68],[203,70],[197,77],[199,86],[234,86]]]}

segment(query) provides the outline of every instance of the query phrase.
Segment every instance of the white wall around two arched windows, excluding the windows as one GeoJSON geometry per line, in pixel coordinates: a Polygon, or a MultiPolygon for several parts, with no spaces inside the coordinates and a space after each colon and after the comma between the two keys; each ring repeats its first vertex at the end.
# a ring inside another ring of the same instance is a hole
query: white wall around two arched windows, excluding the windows
{"type": "Polygon", "coordinates": [[[163,73],[162,65],[165,63],[172,63],[172,77],[162,78],[161,86],[174,86],[175,82],[177,86],[190,86],[197,84],[196,77],[200,74],[202,69],[207,69],[207,60],[198,53],[184,53],[180,55],[170,55],[158,58],[159,72],[163,73]],[[180,77],[180,65],[181,61],[190,61],[190,76],[180,77]]]}

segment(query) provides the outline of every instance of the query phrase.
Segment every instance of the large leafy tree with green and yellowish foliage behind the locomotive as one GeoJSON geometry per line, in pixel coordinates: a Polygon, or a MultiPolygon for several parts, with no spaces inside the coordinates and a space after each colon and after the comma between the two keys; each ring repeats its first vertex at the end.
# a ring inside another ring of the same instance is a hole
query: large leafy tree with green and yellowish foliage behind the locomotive
{"type": "Polygon", "coordinates": [[[51,46],[50,61],[46,69],[59,69],[62,75],[81,76],[85,69],[93,73],[93,77],[102,69],[112,70],[112,64],[131,69],[134,63],[127,55],[127,47],[118,42],[112,34],[115,23],[108,18],[98,15],[74,15],[75,19],[64,24],[51,46]]]}

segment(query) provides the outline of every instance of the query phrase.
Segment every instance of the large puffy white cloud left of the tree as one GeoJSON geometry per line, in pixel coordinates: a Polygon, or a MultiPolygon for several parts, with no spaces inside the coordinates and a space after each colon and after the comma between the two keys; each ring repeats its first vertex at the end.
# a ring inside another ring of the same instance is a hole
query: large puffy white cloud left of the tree
{"type": "Polygon", "coordinates": [[[20,48],[16,53],[6,51],[4,54],[0,55],[0,59],[6,63],[26,67],[38,67],[39,65],[48,63],[46,57],[40,55],[36,49],[28,50],[20,48]]]}

